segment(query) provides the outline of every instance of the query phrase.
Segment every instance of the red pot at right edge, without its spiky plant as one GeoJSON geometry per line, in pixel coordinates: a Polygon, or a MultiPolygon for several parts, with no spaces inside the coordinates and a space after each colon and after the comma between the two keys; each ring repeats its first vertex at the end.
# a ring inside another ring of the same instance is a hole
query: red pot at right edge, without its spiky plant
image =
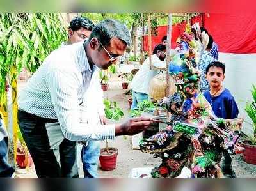
{"type": "Polygon", "coordinates": [[[256,164],[256,146],[248,141],[242,141],[241,145],[245,149],[243,152],[244,161],[249,164],[256,164]]]}

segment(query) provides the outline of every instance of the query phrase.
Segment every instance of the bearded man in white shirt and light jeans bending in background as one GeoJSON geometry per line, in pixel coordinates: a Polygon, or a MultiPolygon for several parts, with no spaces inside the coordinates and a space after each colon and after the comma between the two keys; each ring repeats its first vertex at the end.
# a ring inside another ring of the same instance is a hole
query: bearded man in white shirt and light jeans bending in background
{"type": "MultiPolygon", "coordinates": [[[[166,68],[164,59],[166,57],[166,46],[159,44],[153,50],[151,56],[152,66],[156,68],[166,68]]],[[[132,89],[132,105],[131,109],[135,109],[138,103],[148,99],[150,80],[159,73],[159,70],[150,70],[149,57],[145,59],[140,70],[134,75],[131,82],[132,89]]]]}

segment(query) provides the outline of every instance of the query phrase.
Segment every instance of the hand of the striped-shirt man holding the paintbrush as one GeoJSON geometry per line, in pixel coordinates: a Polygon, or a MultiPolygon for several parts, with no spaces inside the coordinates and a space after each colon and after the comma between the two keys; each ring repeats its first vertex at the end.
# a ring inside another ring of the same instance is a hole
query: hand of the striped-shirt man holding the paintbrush
{"type": "Polygon", "coordinates": [[[115,135],[135,135],[146,130],[151,123],[151,118],[131,118],[125,123],[117,124],[115,126],[115,135]]]}

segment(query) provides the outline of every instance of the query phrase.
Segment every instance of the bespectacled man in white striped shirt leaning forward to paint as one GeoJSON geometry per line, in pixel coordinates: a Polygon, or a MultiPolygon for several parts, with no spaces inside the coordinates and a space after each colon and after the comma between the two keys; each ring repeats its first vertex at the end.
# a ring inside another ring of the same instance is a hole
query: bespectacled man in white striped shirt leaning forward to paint
{"type": "MultiPolygon", "coordinates": [[[[52,52],[36,70],[19,97],[20,131],[35,163],[38,177],[77,176],[66,167],[74,158],[61,151],[58,165],[49,146],[45,123],[60,123],[64,137],[70,141],[114,139],[134,135],[148,128],[150,118],[133,118],[116,125],[90,125],[79,120],[83,102],[95,69],[107,69],[124,54],[131,39],[124,24],[107,19],[93,28],[90,38],[52,52]],[[63,165],[64,164],[64,165],[63,165]]],[[[70,148],[73,151],[74,148],[70,148]]],[[[67,149],[65,152],[68,152],[67,149]]]]}

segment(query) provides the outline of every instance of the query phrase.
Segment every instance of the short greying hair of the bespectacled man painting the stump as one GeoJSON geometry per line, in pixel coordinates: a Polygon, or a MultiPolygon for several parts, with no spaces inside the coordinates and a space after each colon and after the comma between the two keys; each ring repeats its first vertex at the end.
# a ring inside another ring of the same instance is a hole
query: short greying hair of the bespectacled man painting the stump
{"type": "Polygon", "coordinates": [[[103,46],[109,45],[110,40],[113,37],[116,37],[127,46],[131,44],[131,36],[127,26],[122,22],[113,19],[106,19],[93,27],[92,33],[89,37],[89,42],[92,38],[97,38],[103,46]]]}

